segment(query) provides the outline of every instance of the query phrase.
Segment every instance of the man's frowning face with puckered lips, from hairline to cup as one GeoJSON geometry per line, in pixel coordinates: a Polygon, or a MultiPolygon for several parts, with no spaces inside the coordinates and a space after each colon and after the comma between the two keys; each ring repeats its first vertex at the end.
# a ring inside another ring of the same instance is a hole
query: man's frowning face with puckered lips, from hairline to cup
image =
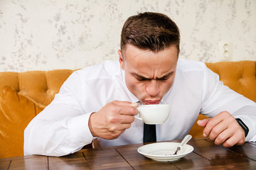
{"type": "Polygon", "coordinates": [[[125,84],[143,104],[158,104],[174,84],[178,51],[175,45],[159,52],[126,45],[118,50],[125,84]]]}

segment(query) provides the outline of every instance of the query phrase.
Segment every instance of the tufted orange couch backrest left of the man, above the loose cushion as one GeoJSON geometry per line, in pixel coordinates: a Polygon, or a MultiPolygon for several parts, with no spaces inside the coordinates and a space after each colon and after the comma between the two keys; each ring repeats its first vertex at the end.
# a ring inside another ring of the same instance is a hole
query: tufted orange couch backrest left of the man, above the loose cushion
{"type": "Polygon", "coordinates": [[[0,72],[0,96],[4,86],[11,86],[18,94],[47,106],[73,72],[74,70],[70,69],[56,69],[48,72],[0,72]]]}

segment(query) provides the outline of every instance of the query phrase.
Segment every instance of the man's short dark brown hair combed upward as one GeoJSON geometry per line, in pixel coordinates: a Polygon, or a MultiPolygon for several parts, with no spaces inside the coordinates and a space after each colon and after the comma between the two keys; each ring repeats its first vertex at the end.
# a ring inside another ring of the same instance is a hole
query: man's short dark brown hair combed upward
{"type": "Polygon", "coordinates": [[[176,23],[162,13],[145,12],[130,16],[121,33],[121,50],[131,44],[142,50],[159,52],[170,45],[179,51],[180,33],[176,23]]]}

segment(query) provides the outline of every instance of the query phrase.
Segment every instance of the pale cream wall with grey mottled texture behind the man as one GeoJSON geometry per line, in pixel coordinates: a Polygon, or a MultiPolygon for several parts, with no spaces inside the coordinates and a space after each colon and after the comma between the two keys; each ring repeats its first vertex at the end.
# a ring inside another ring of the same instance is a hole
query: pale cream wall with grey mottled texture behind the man
{"type": "Polygon", "coordinates": [[[0,0],[0,71],[117,60],[124,21],[143,11],[177,23],[180,57],[217,62],[218,42],[228,40],[232,60],[256,60],[255,0],[0,0]]]}

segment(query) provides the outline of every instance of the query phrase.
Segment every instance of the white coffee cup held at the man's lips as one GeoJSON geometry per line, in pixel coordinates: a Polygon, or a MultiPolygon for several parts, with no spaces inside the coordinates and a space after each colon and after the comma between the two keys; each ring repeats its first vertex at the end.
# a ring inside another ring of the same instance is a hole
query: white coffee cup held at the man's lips
{"type": "Polygon", "coordinates": [[[169,117],[169,104],[142,105],[137,107],[139,116],[134,117],[149,125],[164,123],[169,117]]]}

